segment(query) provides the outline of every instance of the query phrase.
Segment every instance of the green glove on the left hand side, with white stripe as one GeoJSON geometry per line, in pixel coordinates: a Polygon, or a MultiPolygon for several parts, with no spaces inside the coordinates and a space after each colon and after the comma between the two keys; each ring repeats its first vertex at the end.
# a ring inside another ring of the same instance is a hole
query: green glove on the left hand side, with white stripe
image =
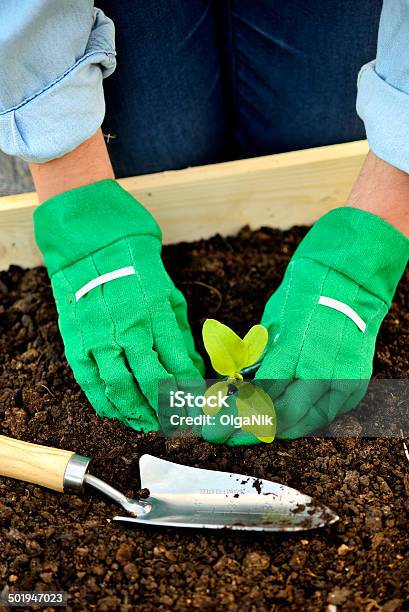
{"type": "Polygon", "coordinates": [[[158,382],[201,379],[184,297],[161,260],[161,231],[113,180],[34,213],[68,363],[100,416],[158,429],[158,382]]]}

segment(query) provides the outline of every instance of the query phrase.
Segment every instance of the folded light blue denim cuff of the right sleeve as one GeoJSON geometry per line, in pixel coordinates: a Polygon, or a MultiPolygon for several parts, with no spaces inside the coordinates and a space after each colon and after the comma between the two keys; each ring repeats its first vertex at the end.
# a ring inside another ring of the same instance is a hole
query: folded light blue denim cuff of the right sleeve
{"type": "Polygon", "coordinates": [[[409,173],[409,95],[379,76],[375,61],[360,70],[356,108],[375,155],[409,173]]]}

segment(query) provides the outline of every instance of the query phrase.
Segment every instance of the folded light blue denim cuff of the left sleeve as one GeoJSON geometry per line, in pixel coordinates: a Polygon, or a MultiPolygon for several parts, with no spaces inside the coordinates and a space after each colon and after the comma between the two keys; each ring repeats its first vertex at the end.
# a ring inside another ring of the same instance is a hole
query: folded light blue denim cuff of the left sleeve
{"type": "Polygon", "coordinates": [[[102,80],[115,66],[113,23],[95,9],[82,57],[40,91],[0,113],[0,149],[38,163],[75,149],[102,124],[102,80]]]}

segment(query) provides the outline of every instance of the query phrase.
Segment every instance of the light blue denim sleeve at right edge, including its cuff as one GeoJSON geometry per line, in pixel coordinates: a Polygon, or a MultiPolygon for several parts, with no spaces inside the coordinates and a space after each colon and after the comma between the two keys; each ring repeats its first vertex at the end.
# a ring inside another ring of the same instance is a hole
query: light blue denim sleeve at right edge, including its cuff
{"type": "Polygon", "coordinates": [[[384,0],[376,60],[358,76],[357,112],[369,146],[409,172],[409,0],[384,0]]]}

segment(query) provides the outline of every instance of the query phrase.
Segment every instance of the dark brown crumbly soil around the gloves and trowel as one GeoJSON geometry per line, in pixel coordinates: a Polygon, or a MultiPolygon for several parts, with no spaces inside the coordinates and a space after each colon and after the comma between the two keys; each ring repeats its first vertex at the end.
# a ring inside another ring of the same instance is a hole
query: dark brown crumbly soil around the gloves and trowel
{"type": "MultiPolygon", "coordinates": [[[[244,229],[166,248],[196,337],[208,316],[240,334],[256,323],[304,233],[244,229]]],[[[408,281],[406,274],[382,326],[378,377],[409,378],[408,281]]],[[[407,609],[409,462],[399,438],[316,437],[232,449],[99,419],[65,361],[42,268],[0,273],[0,364],[1,433],[93,457],[93,473],[128,494],[139,490],[138,460],[149,452],[277,480],[341,517],[295,535],[131,530],[111,522],[117,508],[102,497],[2,478],[0,590],[66,590],[75,610],[407,609]]],[[[342,427],[353,431],[357,422],[348,415],[342,427]]]]}

